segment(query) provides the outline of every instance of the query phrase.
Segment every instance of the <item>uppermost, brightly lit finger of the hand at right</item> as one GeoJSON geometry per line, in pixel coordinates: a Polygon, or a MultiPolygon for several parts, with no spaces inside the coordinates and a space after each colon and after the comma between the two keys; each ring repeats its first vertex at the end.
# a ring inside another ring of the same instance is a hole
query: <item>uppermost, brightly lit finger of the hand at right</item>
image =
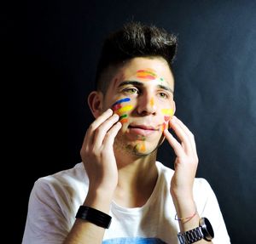
{"type": "Polygon", "coordinates": [[[177,122],[175,117],[172,117],[172,119],[169,122],[170,128],[173,129],[173,131],[177,134],[178,139],[181,142],[181,145],[183,145],[183,149],[186,151],[186,153],[193,152],[191,144],[189,142],[189,136],[184,131],[183,127],[177,122]]]}

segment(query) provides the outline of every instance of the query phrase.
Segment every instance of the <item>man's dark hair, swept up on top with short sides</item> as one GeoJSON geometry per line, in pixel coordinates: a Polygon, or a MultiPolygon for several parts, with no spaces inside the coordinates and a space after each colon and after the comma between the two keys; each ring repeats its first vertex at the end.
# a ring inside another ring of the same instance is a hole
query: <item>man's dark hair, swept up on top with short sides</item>
{"type": "Polygon", "coordinates": [[[175,35],[156,26],[146,26],[139,22],[128,23],[119,31],[111,33],[103,43],[96,70],[96,89],[104,94],[113,76],[111,68],[119,68],[119,65],[132,58],[161,57],[172,70],[176,53],[175,35]]]}

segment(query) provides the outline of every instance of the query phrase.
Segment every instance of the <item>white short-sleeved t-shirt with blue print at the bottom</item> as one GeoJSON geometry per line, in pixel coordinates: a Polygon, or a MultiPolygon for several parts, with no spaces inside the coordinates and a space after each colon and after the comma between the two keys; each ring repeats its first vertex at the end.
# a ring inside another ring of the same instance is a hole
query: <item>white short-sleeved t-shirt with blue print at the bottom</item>
{"type": "MultiPolygon", "coordinates": [[[[143,207],[127,208],[112,202],[112,222],[104,244],[178,244],[176,210],[170,195],[173,170],[156,162],[159,177],[143,207]]],[[[38,179],[31,192],[23,244],[62,243],[73,226],[79,206],[88,192],[89,179],[83,163],[38,179]]],[[[206,179],[195,179],[197,211],[214,230],[214,244],[230,243],[218,201],[206,179]]]]}

